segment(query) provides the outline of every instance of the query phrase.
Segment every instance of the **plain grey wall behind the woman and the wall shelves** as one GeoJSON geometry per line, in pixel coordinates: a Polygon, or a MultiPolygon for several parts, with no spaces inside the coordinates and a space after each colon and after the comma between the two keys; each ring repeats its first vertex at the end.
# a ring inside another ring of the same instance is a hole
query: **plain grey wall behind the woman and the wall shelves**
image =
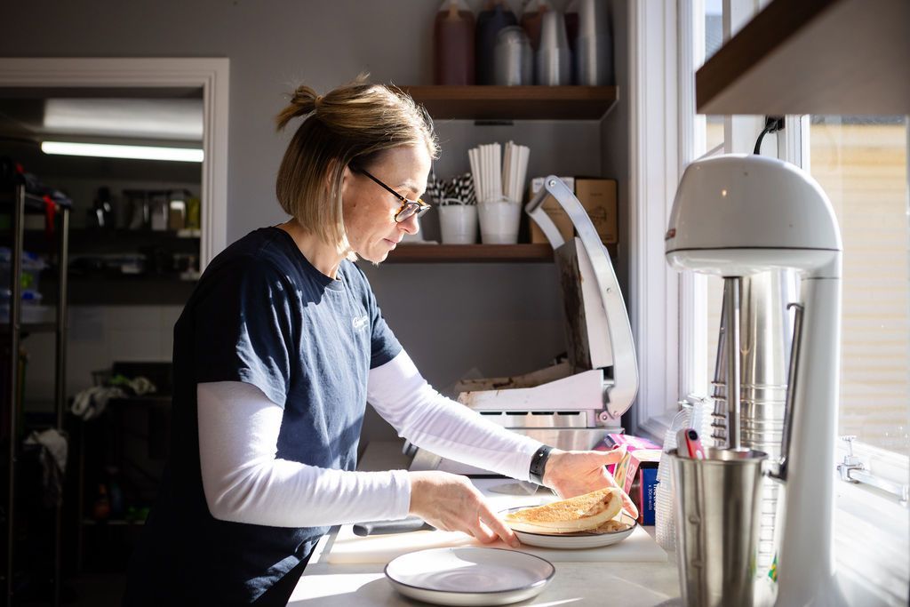
{"type": "MultiPolygon", "coordinates": [[[[476,11],[481,2],[469,4],[476,11]]],[[[33,0],[5,7],[5,23],[19,25],[0,36],[0,56],[228,57],[231,241],[284,219],[272,193],[289,137],[276,135],[272,123],[284,94],[301,82],[326,90],[364,70],[374,81],[429,84],[430,35],[439,5],[440,0],[33,0]]],[[[520,8],[517,0],[511,5],[520,8]]],[[[623,6],[620,12],[613,20],[618,38],[623,6]]],[[[624,46],[616,56],[622,66],[624,46]]],[[[618,76],[625,77],[624,69],[618,76]]],[[[468,147],[513,139],[531,147],[530,176],[604,171],[620,178],[625,200],[624,103],[623,97],[601,126],[440,122],[437,174],[467,170],[468,147]]],[[[437,229],[430,219],[427,233],[437,229]]],[[[560,295],[549,264],[386,265],[367,271],[389,324],[440,388],[469,369],[488,376],[538,369],[564,349],[560,295]]],[[[390,436],[376,420],[366,431],[368,437],[390,436]]]]}

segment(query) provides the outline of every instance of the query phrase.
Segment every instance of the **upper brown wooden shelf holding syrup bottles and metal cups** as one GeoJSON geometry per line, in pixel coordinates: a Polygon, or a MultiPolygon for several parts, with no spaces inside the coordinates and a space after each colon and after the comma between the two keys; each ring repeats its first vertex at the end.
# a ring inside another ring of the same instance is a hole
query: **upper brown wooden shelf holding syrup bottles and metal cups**
{"type": "Polygon", "coordinates": [[[616,86],[401,86],[435,119],[600,120],[616,86]]]}

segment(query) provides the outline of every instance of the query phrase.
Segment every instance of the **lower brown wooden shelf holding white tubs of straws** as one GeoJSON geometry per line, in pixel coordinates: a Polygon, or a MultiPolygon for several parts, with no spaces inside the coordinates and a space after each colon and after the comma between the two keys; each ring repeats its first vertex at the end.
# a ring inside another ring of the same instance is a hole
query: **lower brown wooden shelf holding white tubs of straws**
{"type": "Polygon", "coordinates": [[[399,245],[386,263],[547,263],[550,245],[399,245]]]}

